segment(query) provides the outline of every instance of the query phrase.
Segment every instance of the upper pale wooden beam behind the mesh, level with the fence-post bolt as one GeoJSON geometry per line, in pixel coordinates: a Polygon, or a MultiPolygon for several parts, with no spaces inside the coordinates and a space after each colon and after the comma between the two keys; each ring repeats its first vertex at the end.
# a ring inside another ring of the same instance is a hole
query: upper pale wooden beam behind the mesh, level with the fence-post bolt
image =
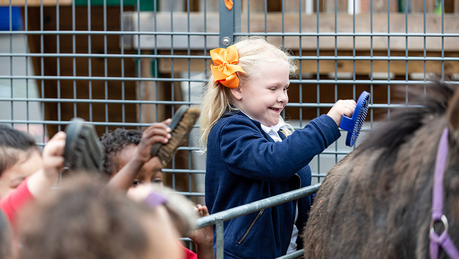
{"type": "MultiPolygon", "coordinates": [[[[207,28],[204,28],[204,21],[202,13],[190,13],[189,16],[189,30],[188,30],[188,15],[186,12],[173,13],[173,29],[170,25],[170,12],[158,12],[156,18],[153,12],[140,13],[140,31],[154,32],[154,26],[158,32],[211,32],[218,33],[219,16],[217,12],[207,13],[207,28]]],[[[424,16],[420,13],[412,13],[408,15],[408,32],[409,33],[423,33],[424,31],[424,16]]],[[[426,14],[426,32],[440,33],[442,31],[442,17],[436,14],[426,14]]],[[[286,33],[296,33],[299,31],[298,14],[286,12],[284,18],[284,29],[286,33]]],[[[316,29],[317,17],[312,15],[301,15],[301,32],[314,33],[316,29]]],[[[137,28],[137,12],[124,12],[124,28],[126,30],[138,31],[137,28]],[[128,29],[129,28],[129,29],[128,29]]],[[[267,32],[282,32],[282,13],[271,12],[267,16],[267,32]]],[[[346,13],[337,14],[338,33],[349,33],[353,31],[355,24],[355,32],[369,33],[370,28],[370,14],[355,15],[355,23],[353,23],[352,15],[346,13]]],[[[264,13],[251,13],[250,14],[250,32],[264,32],[265,31],[265,15],[264,13]]],[[[459,16],[453,14],[444,15],[444,33],[459,33],[459,16]]],[[[390,33],[404,33],[405,32],[405,14],[404,13],[391,13],[390,15],[390,33]]],[[[247,14],[241,14],[241,31],[247,31],[247,14]]],[[[319,20],[319,31],[335,32],[335,14],[321,13],[319,20]]],[[[387,33],[387,13],[373,13],[373,32],[374,33],[387,33]]],[[[125,35],[124,48],[136,49],[138,44],[137,35],[125,35]]],[[[159,50],[170,50],[172,39],[174,50],[201,50],[204,41],[207,41],[208,49],[218,48],[218,36],[200,36],[200,35],[141,35],[140,46],[145,50],[153,50],[155,46],[159,50]]],[[[269,37],[274,44],[282,44],[281,36],[269,37]]],[[[371,41],[370,36],[358,36],[355,38],[355,49],[370,50],[371,41]]],[[[298,36],[284,37],[284,45],[291,50],[315,50],[317,48],[317,37],[302,37],[301,46],[299,45],[298,36]]],[[[321,50],[334,50],[335,40],[334,36],[321,36],[319,38],[319,46],[321,50]]],[[[352,36],[338,36],[337,46],[338,50],[352,50],[354,47],[352,36]]],[[[388,49],[387,36],[373,36],[372,48],[374,51],[388,49]]],[[[406,46],[405,37],[391,36],[390,49],[391,51],[404,51],[407,48],[410,51],[422,51],[424,49],[424,41],[422,37],[410,37],[406,46]]],[[[426,37],[425,48],[427,51],[441,51],[442,40],[440,37],[426,37]]],[[[457,37],[444,38],[444,51],[457,51],[457,37]]]]}

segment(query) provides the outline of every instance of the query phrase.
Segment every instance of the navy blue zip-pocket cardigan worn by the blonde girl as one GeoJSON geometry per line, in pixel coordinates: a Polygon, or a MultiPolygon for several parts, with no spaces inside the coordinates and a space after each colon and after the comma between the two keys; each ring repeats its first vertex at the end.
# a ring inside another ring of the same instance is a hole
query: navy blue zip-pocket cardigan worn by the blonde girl
{"type": "MultiPolygon", "coordinates": [[[[288,138],[274,140],[260,122],[244,113],[226,113],[207,140],[206,205],[210,213],[311,185],[308,163],[340,136],[327,115],[312,120],[288,138]]],[[[295,205],[287,202],[224,222],[225,258],[274,258],[290,243],[295,205]]],[[[308,219],[311,198],[298,200],[301,230],[308,219]]],[[[298,248],[302,241],[298,236],[298,248]]],[[[215,245],[215,238],[214,238],[215,245]]]]}

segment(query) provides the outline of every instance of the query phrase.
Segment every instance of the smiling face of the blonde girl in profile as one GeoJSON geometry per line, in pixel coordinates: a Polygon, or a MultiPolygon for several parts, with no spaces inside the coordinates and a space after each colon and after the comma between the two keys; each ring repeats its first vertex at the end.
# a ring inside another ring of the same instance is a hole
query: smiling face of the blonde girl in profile
{"type": "Polygon", "coordinates": [[[279,122],[281,111],[289,102],[289,67],[277,62],[260,68],[260,76],[239,88],[232,88],[234,104],[253,120],[271,127],[279,122]]]}

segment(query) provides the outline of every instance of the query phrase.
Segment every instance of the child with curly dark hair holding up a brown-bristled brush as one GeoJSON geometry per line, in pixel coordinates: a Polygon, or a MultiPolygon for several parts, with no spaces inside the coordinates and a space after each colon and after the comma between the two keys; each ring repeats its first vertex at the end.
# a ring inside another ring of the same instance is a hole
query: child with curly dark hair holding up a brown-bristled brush
{"type": "MultiPolygon", "coordinates": [[[[155,123],[143,133],[118,128],[100,137],[104,147],[103,170],[111,178],[109,186],[129,194],[136,190],[136,186],[162,184],[161,161],[157,156],[151,156],[150,149],[155,143],[168,142],[169,122],[170,119],[155,123]]],[[[206,206],[198,204],[195,210],[200,216],[209,215],[206,206]]],[[[214,258],[212,226],[193,231],[190,238],[196,243],[197,255],[183,247],[186,258],[214,258]]]]}

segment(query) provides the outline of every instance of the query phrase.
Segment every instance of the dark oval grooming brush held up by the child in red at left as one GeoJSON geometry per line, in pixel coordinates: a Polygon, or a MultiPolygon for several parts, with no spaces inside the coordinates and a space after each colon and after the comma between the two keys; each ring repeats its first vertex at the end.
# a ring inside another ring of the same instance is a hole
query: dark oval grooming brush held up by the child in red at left
{"type": "Polygon", "coordinates": [[[73,118],[65,127],[64,159],[72,171],[99,172],[102,166],[103,148],[94,125],[80,118],[73,118]]]}

